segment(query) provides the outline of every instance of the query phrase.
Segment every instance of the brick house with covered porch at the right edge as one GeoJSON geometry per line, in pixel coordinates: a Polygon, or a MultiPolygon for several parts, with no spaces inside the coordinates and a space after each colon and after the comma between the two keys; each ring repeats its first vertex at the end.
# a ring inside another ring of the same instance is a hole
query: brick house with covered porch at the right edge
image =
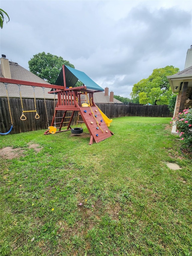
{"type": "MultiPolygon", "coordinates": [[[[174,117],[178,117],[179,112],[192,107],[192,45],[187,50],[185,69],[167,76],[173,94],[177,94],[174,117]]],[[[176,134],[176,126],[173,125],[172,133],[176,134]]]]}

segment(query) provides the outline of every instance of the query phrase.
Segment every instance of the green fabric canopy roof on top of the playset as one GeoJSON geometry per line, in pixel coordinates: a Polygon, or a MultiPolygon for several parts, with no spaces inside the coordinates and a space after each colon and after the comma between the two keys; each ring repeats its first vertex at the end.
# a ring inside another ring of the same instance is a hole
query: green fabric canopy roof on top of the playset
{"type": "MultiPolygon", "coordinates": [[[[94,91],[101,91],[101,92],[104,91],[103,88],[101,88],[97,83],[95,83],[84,72],[71,68],[66,65],[64,65],[64,71],[65,71],[66,87],[74,87],[76,82],[80,80],[86,86],[87,89],[91,89],[94,91]]],[[[63,69],[61,69],[61,72],[55,84],[64,86],[63,69]]]]}

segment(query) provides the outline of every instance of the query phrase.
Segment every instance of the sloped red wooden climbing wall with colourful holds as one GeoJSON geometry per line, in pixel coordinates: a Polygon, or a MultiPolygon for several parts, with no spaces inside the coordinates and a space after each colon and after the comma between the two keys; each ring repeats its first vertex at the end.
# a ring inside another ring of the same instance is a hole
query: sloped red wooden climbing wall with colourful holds
{"type": "Polygon", "coordinates": [[[80,113],[91,135],[89,144],[92,144],[92,140],[98,143],[112,136],[98,107],[80,107],[80,113]]]}

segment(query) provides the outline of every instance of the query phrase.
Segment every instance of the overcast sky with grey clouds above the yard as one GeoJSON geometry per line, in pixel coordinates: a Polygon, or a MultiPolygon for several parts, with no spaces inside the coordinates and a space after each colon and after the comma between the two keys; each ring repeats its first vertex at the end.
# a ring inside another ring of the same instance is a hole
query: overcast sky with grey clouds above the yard
{"type": "Polygon", "coordinates": [[[130,98],[155,68],[184,69],[192,1],[9,1],[0,54],[29,70],[41,52],[61,56],[102,88],[130,98]]]}

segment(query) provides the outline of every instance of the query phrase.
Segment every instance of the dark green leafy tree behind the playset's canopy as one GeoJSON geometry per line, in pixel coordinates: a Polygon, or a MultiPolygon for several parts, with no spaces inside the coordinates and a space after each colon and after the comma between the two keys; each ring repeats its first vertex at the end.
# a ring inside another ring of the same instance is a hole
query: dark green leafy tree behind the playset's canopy
{"type": "Polygon", "coordinates": [[[55,84],[57,77],[61,71],[62,65],[67,65],[71,68],[75,68],[69,61],[64,60],[61,56],[52,55],[50,53],[38,53],[33,55],[33,58],[29,60],[29,70],[46,80],[51,84],[55,84]]]}

